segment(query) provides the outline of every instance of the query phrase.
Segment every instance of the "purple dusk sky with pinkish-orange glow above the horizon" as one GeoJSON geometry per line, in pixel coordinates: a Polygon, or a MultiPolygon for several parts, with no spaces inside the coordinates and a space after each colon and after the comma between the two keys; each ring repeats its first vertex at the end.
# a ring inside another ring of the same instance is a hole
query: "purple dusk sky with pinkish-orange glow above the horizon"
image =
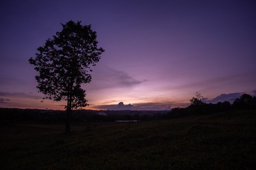
{"type": "Polygon", "coordinates": [[[69,20],[92,24],[106,50],[83,86],[87,109],[187,106],[196,91],[209,102],[255,95],[255,9],[255,0],[2,0],[0,107],[63,109],[40,102],[28,59],[69,20]]]}

